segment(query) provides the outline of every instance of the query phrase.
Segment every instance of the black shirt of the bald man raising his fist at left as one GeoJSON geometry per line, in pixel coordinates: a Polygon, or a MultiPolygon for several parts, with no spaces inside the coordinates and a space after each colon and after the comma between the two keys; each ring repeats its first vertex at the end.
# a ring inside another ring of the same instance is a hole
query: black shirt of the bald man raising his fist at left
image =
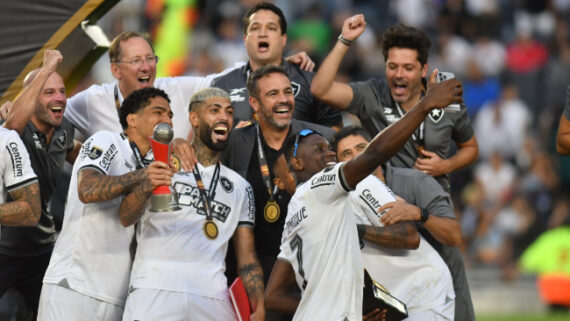
{"type": "Polygon", "coordinates": [[[46,136],[32,122],[22,135],[22,141],[30,154],[30,162],[38,176],[42,213],[34,227],[2,226],[0,253],[11,256],[32,256],[47,253],[55,243],[55,226],[49,211],[49,201],[63,171],[65,157],[73,149],[74,129],[67,119],[56,127],[47,144],[46,136]]]}

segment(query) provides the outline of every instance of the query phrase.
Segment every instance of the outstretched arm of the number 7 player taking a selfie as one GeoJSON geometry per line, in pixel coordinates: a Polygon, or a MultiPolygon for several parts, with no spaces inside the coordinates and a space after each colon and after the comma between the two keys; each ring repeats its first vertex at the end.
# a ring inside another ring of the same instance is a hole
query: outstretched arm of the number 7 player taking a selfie
{"type": "Polygon", "coordinates": [[[462,94],[463,88],[459,80],[453,78],[436,84],[433,72],[430,75],[429,88],[422,100],[399,121],[376,135],[362,154],[344,164],[342,170],[348,186],[354,188],[376,167],[394,156],[430,110],[459,103],[462,94]]]}

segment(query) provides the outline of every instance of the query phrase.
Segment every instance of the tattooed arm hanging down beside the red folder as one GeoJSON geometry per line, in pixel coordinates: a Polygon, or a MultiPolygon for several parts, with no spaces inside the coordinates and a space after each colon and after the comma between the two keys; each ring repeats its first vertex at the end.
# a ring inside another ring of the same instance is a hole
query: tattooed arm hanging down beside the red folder
{"type": "Polygon", "coordinates": [[[265,320],[263,302],[263,270],[255,253],[253,229],[239,227],[236,229],[233,241],[237,258],[237,271],[247,292],[247,297],[253,309],[250,320],[265,320]]]}

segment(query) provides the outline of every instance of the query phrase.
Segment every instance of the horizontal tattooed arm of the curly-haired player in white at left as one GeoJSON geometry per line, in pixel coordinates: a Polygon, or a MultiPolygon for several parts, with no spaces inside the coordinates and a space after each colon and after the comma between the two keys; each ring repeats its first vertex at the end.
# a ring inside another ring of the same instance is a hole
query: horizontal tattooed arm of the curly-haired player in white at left
{"type": "Polygon", "coordinates": [[[146,177],[144,169],[120,176],[105,175],[94,169],[80,173],[79,194],[84,202],[108,201],[130,192],[146,177]]]}

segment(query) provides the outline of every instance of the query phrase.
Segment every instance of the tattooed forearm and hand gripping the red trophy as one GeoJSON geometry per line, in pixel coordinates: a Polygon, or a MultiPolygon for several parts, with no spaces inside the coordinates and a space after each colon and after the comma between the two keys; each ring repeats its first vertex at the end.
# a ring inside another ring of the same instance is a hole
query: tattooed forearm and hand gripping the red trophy
{"type": "Polygon", "coordinates": [[[119,220],[123,226],[134,224],[143,215],[146,202],[156,187],[161,185],[170,186],[172,184],[172,173],[172,168],[159,161],[152,162],[144,169],[142,184],[135,187],[121,201],[119,220]]]}

